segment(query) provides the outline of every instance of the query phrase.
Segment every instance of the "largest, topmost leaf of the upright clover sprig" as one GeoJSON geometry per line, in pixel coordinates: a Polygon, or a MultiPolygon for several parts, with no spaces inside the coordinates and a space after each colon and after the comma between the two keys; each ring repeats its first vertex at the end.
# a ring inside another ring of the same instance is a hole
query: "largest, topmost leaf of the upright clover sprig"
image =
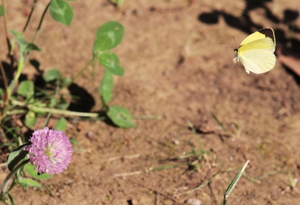
{"type": "Polygon", "coordinates": [[[106,22],[96,32],[93,53],[97,55],[100,51],[111,50],[116,47],[121,42],[123,34],[124,28],[119,22],[106,22]]]}

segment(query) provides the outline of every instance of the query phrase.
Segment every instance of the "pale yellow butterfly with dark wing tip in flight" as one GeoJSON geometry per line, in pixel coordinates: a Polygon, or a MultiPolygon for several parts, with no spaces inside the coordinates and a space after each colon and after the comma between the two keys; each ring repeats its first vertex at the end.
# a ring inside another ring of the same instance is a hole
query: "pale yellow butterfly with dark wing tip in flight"
{"type": "Polygon", "coordinates": [[[246,73],[266,73],[272,70],[276,63],[275,35],[273,29],[260,29],[245,38],[235,49],[234,64],[241,61],[246,73]]]}

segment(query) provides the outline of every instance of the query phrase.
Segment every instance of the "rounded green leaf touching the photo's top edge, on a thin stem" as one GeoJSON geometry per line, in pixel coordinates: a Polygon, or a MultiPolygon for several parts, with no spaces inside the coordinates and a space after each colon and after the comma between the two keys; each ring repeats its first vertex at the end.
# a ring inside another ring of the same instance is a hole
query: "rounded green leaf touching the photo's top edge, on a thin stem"
{"type": "Polygon", "coordinates": [[[52,0],[50,3],[50,15],[52,19],[66,26],[73,20],[73,8],[63,0],[52,0]]]}

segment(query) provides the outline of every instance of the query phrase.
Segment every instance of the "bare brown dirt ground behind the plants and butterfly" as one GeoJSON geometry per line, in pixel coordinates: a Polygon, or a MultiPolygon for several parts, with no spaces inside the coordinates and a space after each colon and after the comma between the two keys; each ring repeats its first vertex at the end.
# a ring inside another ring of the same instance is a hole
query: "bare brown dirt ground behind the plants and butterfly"
{"type": "MultiPolygon", "coordinates": [[[[7,3],[10,29],[22,31],[31,1],[7,3]]],[[[300,175],[300,78],[279,61],[269,73],[248,75],[241,63],[232,65],[232,47],[271,27],[277,49],[294,48],[300,20],[287,18],[300,1],[127,0],[121,9],[105,0],[68,3],[75,10],[72,24],[47,14],[36,41],[43,52],[31,59],[42,70],[59,68],[73,77],[91,59],[98,27],[119,21],[125,36],[114,52],[125,75],[114,79],[110,105],[129,109],[137,128],[70,121],[66,134],[78,142],[70,166],[43,181],[43,190],[15,188],[17,204],[220,204],[246,160],[246,175],[229,204],[299,203],[299,184],[292,188],[289,176],[297,181],[300,175]],[[193,149],[201,153],[177,159],[193,149]],[[174,167],[150,169],[169,165],[174,167]]],[[[38,1],[36,23],[25,34],[29,39],[46,4],[38,1]]],[[[0,31],[3,36],[2,25],[0,31]]],[[[5,39],[0,43],[6,59],[5,39]]],[[[33,76],[36,71],[27,67],[25,73],[33,76]]],[[[77,95],[94,100],[91,112],[101,109],[97,88],[103,68],[95,72],[75,82],[77,95]]]]}

